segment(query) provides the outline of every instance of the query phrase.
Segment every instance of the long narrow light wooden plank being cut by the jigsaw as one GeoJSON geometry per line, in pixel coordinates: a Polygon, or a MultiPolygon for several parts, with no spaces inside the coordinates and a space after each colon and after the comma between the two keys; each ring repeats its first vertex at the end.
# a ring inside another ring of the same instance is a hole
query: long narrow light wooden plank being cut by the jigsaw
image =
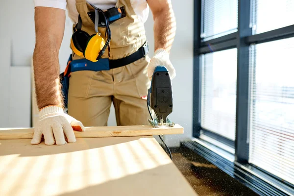
{"type": "MultiPolygon", "coordinates": [[[[0,139],[32,139],[34,128],[0,128],[0,139]]],[[[184,128],[179,124],[174,127],[162,126],[153,128],[151,125],[132,126],[92,126],[84,132],[74,131],[76,138],[124,137],[183,134],[184,128]]]]}

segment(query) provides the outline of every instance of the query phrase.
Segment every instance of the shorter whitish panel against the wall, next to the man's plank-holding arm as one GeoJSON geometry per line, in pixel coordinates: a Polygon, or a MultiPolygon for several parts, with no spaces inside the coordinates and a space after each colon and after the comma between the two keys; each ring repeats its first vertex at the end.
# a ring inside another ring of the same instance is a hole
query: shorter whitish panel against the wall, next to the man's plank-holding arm
{"type": "Polygon", "coordinates": [[[9,127],[30,127],[30,67],[10,68],[9,127]]]}

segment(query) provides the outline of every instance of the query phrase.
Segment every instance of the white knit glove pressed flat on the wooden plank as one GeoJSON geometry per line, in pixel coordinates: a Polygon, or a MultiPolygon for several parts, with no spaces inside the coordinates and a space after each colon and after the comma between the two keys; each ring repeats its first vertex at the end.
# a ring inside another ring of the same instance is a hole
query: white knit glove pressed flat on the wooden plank
{"type": "Polygon", "coordinates": [[[84,131],[83,124],[63,112],[59,106],[47,106],[39,112],[39,122],[36,124],[31,144],[39,144],[44,135],[46,145],[66,144],[64,134],[69,143],[76,141],[73,129],[84,131]],[[54,140],[55,138],[55,140],[54,140]]]}

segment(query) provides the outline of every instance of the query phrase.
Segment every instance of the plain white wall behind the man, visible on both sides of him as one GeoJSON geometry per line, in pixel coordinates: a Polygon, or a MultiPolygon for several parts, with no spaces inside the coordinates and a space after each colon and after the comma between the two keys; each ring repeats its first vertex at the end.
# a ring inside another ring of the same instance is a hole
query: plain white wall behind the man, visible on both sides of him
{"type": "MultiPolygon", "coordinates": [[[[173,112],[170,119],[184,126],[184,135],[167,135],[169,146],[179,145],[179,141],[192,137],[193,110],[193,0],[172,0],[177,21],[176,37],[171,50],[171,61],[176,69],[176,77],[172,80],[173,112]]],[[[35,44],[34,4],[33,0],[6,0],[0,6],[0,38],[11,40],[11,66],[30,66],[30,58],[35,44]],[[17,6],[16,6],[17,5],[17,6]]],[[[150,12],[145,24],[147,39],[152,57],[154,51],[153,17],[150,12]]],[[[71,50],[70,37],[72,23],[66,19],[64,39],[59,60],[61,71],[65,69],[71,50]]],[[[1,65],[0,65],[1,66],[1,65]]],[[[116,125],[114,110],[108,125],[116,125]]]]}

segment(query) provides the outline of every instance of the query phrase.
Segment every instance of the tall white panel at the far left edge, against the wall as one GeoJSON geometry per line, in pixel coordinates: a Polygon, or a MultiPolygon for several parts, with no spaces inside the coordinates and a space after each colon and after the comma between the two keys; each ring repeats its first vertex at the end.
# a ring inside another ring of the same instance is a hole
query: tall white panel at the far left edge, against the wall
{"type": "Polygon", "coordinates": [[[0,127],[9,126],[10,39],[0,39],[0,127]]]}

